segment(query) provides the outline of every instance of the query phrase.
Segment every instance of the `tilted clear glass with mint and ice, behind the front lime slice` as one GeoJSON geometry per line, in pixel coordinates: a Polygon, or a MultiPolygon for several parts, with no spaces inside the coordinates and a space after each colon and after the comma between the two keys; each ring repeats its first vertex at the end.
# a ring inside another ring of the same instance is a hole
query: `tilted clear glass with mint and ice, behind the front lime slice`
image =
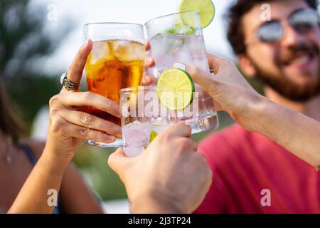
{"type": "MultiPolygon", "coordinates": [[[[158,75],[169,68],[181,65],[195,65],[205,71],[210,71],[197,12],[161,16],[146,22],[145,26],[151,53],[159,71],[158,75]]],[[[203,88],[197,85],[196,87],[198,93],[201,93],[199,97],[205,97],[206,103],[199,104],[198,121],[196,123],[191,121],[190,123],[192,133],[218,128],[218,115],[214,100],[203,88]]]]}

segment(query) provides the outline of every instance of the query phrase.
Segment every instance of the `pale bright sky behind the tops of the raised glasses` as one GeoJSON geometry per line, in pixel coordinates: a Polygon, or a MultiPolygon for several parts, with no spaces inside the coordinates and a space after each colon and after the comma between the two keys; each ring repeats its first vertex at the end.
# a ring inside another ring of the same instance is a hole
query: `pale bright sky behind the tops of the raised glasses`
{"type": "MultiPolygon", "coordinates": [[[[226,39],[223,16],[233,0],[213,0],[215,18],[203,29],[206,50],[226,58],[233,53],[226,39]]],[[[82,44],[82,29],[92,22],[130,22],[144,24],[149,19],[178,11],[181,0],[32,0],[30,7],[42,5],[47,11],[46,31],[55,33],[67,21],[73,21],[70,33],[63,37],[49,58],[43,59],[45,73],[58,74],[68,70],[82,44]],[[69,20],[68,20],[69,19],[69,20]]]]}

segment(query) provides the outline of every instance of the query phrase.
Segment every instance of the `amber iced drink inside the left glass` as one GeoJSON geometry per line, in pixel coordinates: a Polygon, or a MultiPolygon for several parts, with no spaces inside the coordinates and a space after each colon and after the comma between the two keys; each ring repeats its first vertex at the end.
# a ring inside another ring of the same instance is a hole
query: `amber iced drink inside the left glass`
{"type": "MultiPolygon", "coordinates": [[[[93,42],[85,66],[87,88],[119,103],[119,90],[140,86],[144,68],[143,43],[129,40],[93,42]]],[[[91,108],[91,113],[120,125],[120,119],[91,108]]]]}

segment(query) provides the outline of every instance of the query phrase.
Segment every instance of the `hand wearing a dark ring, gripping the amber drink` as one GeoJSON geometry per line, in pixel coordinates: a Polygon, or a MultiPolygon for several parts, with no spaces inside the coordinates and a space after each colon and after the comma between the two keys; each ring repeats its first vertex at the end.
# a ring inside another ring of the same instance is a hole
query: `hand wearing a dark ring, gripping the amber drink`
{"type": "MultiPolygon", "coordinates": [[[[87,56],[92,49],[92,41],[80,48],[71,63],[68,79],[80,83],[87,56]]],[[[119,125],[86,113],[84,107],[94,107],[120,117],[119,105],[102,95],[91,92],[78,92],[63,88],[50,99],[50,123],[46,152],[54,153],[67,160],[73,158],[75,149],[85,140],[98,140],[110,143],[121,137],[119,125]]]]}

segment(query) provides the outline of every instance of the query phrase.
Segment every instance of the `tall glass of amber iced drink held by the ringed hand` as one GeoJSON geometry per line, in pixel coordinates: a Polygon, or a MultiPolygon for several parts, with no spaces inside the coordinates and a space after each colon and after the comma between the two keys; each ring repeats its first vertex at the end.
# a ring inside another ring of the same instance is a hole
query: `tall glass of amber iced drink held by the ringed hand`
{"type": "MultiPolygon", "coordinates": [[[[144,71],[144,28],[140,24],[86,24],[84,40],[92,40],[92,51],[87,58],[85,74],[87,89],[119,103],[119,90],[141,86],[144,71]]],[[[120,125],[120,119],[96,108],[90,113],[120,125]]],[[[122,146],[122,139],[105,144],[89,140],[90,145],[122,146]]]]}

